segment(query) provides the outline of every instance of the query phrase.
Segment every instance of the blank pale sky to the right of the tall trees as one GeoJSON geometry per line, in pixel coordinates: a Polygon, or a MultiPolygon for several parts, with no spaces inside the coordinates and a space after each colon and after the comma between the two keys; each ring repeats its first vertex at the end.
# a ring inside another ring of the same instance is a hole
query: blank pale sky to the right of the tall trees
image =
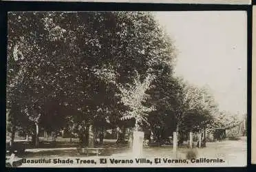
{"type": "Polygon", "coordinates": [[[246,113],[246,12],[156,12],[156,18],[178,49],[175,74],[209,85],[220,110],[246,113]]]}

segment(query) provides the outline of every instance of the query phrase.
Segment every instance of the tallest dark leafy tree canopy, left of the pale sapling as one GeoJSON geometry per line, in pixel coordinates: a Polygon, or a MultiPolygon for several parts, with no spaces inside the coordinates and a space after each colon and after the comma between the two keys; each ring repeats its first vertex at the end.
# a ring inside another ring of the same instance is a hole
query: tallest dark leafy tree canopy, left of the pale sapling
{"type": "Polygon", "coordinates": [[[117,105],[118,85],[132,85],[137,73],[136,82],[145,83],[165,66],[172,70],[174,52],[150,12],[9,13],[9,131],[22,116],[36,129],[40,122],[49,127],[47,114],[65,120],[65,108],[83,129],[98,120],[117,122],[126,111],[125,103],[117,105]],[[50,100],[58,111],[44,110],[50,100]]]}

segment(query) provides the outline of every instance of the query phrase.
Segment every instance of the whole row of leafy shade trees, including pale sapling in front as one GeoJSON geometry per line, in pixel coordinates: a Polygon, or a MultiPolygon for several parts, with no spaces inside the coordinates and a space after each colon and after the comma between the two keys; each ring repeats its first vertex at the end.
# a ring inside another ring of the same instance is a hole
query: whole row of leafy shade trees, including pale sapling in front
{"type": "Polygon", "coordinates": [[[158,140],[206,129],[219,113],[213,96],[173,76],[174,64],[150,12],[10,12],[10,143],[17,127],[36,133],[36,147],[41,127],[66,127],[83,144],[92,126],[149,129],[158,140]]]}

